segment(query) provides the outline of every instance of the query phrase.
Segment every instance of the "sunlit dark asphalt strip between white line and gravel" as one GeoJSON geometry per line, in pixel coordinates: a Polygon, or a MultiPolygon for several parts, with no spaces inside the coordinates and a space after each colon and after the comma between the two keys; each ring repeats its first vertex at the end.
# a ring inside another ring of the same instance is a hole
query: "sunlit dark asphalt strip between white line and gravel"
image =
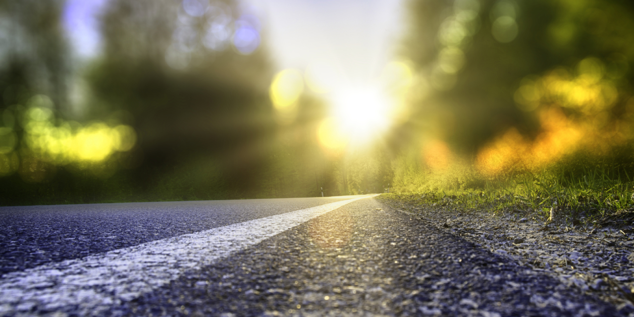
{"type": "Polygon", "coordinates": [[[634,311],[529,268],[513,254],[490,252],[392,203],[369,198],[345,205],[188,271],[105,315],[627,316],[634,311]]]}

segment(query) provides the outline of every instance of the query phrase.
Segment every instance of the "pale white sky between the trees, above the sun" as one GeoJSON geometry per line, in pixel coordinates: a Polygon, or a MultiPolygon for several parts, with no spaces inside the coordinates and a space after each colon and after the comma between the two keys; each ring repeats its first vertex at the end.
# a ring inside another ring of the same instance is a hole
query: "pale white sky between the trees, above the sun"
{"type": "Polygon", "coordinates": [[[268,0],[269,49],[280,68],[328,63],[353,82],[376,77],[391,60],[401,0],[268,0]]]}

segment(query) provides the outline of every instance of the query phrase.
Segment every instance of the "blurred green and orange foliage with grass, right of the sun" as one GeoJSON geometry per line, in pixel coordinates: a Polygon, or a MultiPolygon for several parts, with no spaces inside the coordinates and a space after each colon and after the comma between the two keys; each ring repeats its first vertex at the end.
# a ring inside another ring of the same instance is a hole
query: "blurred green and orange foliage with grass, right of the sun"
{"type": "Polygon", "coordinates": [[[401,52],[419,89],[399,132],[410,138],[392,164],[396,192],[540,216],[557,200],[585,219],[632,207],[630,3],[413,0],[408,9],[401,52]]]}

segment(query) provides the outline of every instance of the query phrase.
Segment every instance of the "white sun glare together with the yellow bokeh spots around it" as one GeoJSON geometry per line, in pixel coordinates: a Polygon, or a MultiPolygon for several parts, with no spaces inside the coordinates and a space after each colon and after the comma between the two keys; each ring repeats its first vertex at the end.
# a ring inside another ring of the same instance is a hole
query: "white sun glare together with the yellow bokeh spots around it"
{"type": "Polygon", "coordinates": [[[368,145],[404,117],[403,100],[412,82],[413,72],[403,61],[387,63],[380,76],[356,85],[337,67],[321,61],[309,65],[304,74],[292,68],[278,72],[269,96],[281,125],[295,122],[305,91],[325,101],[330,111],[320,122],[317,137],[323,148],[339,152],[368,145]]]}

